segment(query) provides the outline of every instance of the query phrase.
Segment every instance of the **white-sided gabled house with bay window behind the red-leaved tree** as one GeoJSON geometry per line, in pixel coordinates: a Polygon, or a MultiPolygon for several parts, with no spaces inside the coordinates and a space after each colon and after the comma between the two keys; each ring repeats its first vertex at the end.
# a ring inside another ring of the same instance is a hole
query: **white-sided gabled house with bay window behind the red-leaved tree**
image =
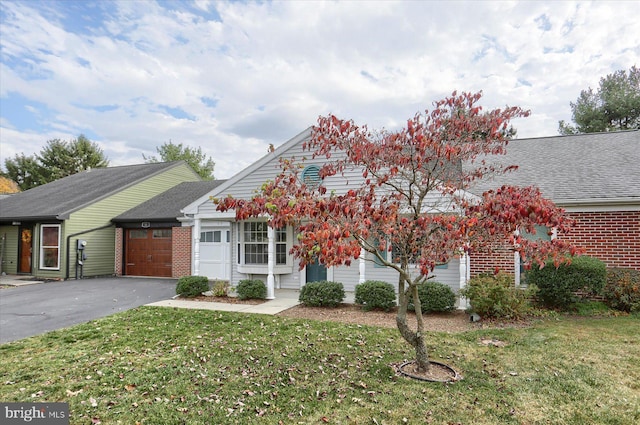
{"type": "MultiPolygon", "coordinates": [[[[274,289],[300,289],[308,281],[330,280],[341,282],[345,291],[354,291],[358,283],[365,280],[382,280],[397,287],[398,273],[377,265],[366,253],[351,266],[324,268],[308,266],[299,270],[299,263],[289,250],[296,235],[291,228],[268,229],[266,220],[252,219],[236,222],[234,212],[221,213],[211,197],[250,199],[267,180],[280,172],[279,158],[301,160],[309,156],[302,144],[311,136],[311,128],[298,134],[273,152],[245,168],[213,191],[186,206],[180,220],[183,226],[193,226],[192,272],[210,278],[228,279],[232,285],[242,279],[261,279],[267,284],[268,298],[275,297],[274,289]],[[217,246],[209,241],[208,231],[221,231],[217,246]],[[228,233],[226,233],[228,231],[228,233]],[[205,236],[207,241],[202,240],[205,236]],[[228,235],[228,236],[227,236],[228,235]],[[224,252],[221,252],[224,251],[224,252]]],[[[322,164],[323,158],[307,159],[305,166],[322,164]]],[[[350,185],[359,185],[362,172],[353,170],[343,176],[326,178],[322,184],[327,192],[345,193],[350,185]]],[[[364,252],[364,251],[363,251],[364,252]]],[[[464,286],[467,279],[467,262],[464,257],[452,259],[438,266],[434,280],[449,285],[455,292],[464,286]]]]}

